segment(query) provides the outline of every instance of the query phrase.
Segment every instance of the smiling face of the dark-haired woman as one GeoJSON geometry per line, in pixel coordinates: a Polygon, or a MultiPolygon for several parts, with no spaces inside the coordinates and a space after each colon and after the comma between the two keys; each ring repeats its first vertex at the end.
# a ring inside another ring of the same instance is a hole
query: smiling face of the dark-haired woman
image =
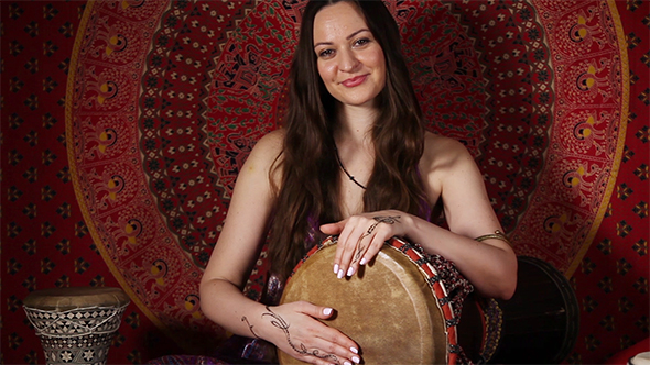
{"type": "Polygon", "coordinates": [[[314,52],[318,74],[336,100],[344,106],[375,106],[386,85],[386,60],[355,4],[337,2],[316,14],[314,52]]]}

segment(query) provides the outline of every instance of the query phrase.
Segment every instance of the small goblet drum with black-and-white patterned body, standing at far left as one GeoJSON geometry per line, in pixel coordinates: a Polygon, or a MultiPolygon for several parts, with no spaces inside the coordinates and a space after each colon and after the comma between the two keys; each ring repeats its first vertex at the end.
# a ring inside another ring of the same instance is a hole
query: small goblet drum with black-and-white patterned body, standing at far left
{"type": "Polygon", "coordinates": [[[33,291],[23,307],[47,364],[102,365],[129,302],[118,288],[73,287],[33,291]]]}

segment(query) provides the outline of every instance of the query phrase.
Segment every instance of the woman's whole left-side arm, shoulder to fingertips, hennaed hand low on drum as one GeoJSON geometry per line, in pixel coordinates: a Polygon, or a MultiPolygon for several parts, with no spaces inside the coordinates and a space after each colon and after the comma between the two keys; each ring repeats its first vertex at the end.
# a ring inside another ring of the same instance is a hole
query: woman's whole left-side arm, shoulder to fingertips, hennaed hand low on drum
{"type": "Polygon", "coordinates": [[[314,319],[327,319],[332,309],[308,302],[268,307],[241,291],[267,235],[273,204],[269,170],[281,146],[281,132],[264,136],[239,173],[224,230],[201,281],[201,308],[226,330],[272,342],[303,362],[358,363],[355,342],[314,319]]]}

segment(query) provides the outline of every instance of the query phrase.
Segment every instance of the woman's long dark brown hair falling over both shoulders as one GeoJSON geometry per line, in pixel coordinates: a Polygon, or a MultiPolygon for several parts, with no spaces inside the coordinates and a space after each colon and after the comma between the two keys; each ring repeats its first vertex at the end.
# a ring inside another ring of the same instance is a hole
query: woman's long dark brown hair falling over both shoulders
{"type": "MultiPolygon", "coordinates": [[[[285,279],[305,254],[317,224],[340,219],[339,169],[333,131],[337,101],[321,80],[313,48],[314,18],[326,5],[350,0],[310,1],[289,75],[289,108],[280,186],[271,221],[271,270],[285,279]]],[[[398,209],[427,218],[429,203],[418,169],[424,148],[422,112],[401,54],[399,29],[381,1],[350,1],[361,10],[387,65],[379,117],[371,130],[375,166],[364,195],[364,211],[398,209]]]]}

